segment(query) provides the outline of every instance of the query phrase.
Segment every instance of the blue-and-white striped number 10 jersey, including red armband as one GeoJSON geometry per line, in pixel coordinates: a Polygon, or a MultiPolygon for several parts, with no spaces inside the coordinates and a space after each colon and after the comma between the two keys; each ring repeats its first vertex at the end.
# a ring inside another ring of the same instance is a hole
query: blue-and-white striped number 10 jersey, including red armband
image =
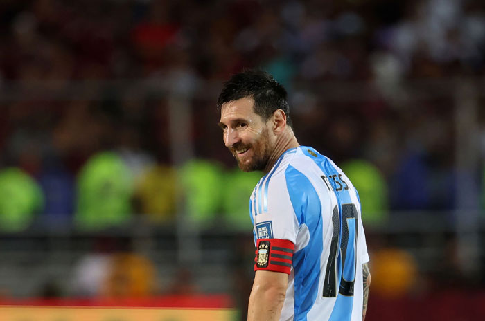
{"type": "Polygon", "coordinates": [[[289,274],[280,320],[362,320],[369,255],[360,199],[330,158],[288,149],[254,188],[249,210],[255,270],[289,274]]]}

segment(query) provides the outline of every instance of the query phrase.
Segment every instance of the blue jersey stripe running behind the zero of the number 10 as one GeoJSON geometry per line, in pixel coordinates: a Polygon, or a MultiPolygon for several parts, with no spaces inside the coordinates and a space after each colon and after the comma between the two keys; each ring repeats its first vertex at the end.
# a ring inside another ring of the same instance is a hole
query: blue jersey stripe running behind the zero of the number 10
{"type": "MultiPolygon", "coordinates": [[[[337,169],[333,166],[332,163],[330,163],[330,160],[328,158],[321,156],[318,158],[312,157],[310,153],[308,153],[308,149],[310,149],[312,152],[319,154],[315,149],[311,147],[302,147],[303,153],[309,156],[312,160],[315,161],[315,163],[320,167],[322,172],[325,173],[326,176],[332,176],[332,175],[337,175],[340,174],[337,169]]],[[[320,155],[320,154],[319,154],[320,155]]],[[[347,255],[349,259],[354,259],[354,246],[353,246],[353,240],[355,237],[355,219],[348,219],[346,222],[342,222],[342,204],[349,204],[352,203],[351,200],[351,195],[349,194],[348,190],[340,190],[337,192],[338,186],[337,183],[335,183],[334,179],[328,179],[330,184],[333,187],[333,192],[335,193],[335,196],[337,197],[337,203],[339,207],[339,212],[340,214],[340,234],[339,234],[339,248],[340,248],[340,242],[342,241],[342,223],[346,223],[349,226],[349,241],[347,243],[347,248],[350,249],[348,251],[347,255]],[[352,237],[352,238],[351,238],[352,237]]],[[[339,255],[338,257],[338,271],[339,274],[337,275],[337,280],[340,284],[340,279],[342,278],[342,254],[339,255]]],[[[352,280],[355,279],[355,261],[354,262],[349,262],[349,264],[346,264],[348,268],[343,271],[344,273],[344,279],[346,280],[352,280]],[[349,267],[350,266],[350,267],[349,267]]],[[[353,306],[353,297],[346,297],[344,295],[341,295],[338,293],[337,295],[337,300],[335,301],[335,306],[333,306],[333,311],[332,314],[330,315],[329,321],[342,321],[342,320],[351,320],[352,316],[352,306],[353,306]]]]}

